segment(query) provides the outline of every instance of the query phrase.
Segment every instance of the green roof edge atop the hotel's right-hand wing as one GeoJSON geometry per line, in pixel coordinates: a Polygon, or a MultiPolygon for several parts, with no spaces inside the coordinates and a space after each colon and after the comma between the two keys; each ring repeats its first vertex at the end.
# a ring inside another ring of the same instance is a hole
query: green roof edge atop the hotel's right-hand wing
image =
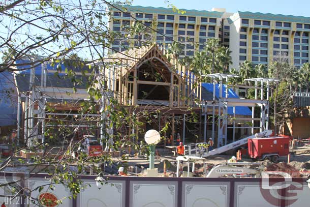
{"type": "Polygon", "coordinates": [[[229,22],[232,23],[233,21],[237,20],[238,18],[310,23],[310,17],[283,15],[283,14],[270,14],[270,13],[263,14],[260,12],[253,13],[253,12],[240,12],[240,11],[238,11],[233,16],[231,16],[229,18],[229,22]]]}

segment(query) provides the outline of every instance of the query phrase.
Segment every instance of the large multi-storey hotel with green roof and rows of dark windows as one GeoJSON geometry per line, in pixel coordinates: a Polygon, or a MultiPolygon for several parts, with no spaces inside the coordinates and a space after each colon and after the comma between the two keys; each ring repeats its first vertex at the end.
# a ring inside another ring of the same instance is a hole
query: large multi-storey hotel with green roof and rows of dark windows
{"type": "Polygon", "coordinates": [[[150,28],[136,39],[115,40],[114,51],[126,50],[142,41],[157,42],[164,47],[177,41],[183,45],[181,55],[191,56],[204,48],[207,39],[219,38],[221,44],[232,51],[232,68],[239,68],[245,60],[267,65],[276,58],[285,58],[296,67],[309,62],[310,17],[228,13],[216,8],[211,11],[181,9],[181,12],[141,6],[119,9],[123,12],[110,8],[112,31],[127,33],[126,28],[137,20],[150,28]]]}

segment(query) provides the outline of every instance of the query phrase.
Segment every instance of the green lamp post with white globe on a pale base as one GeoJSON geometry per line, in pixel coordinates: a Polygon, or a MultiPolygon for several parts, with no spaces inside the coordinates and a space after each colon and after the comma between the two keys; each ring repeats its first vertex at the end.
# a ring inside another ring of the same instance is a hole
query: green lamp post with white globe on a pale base
{"type": "Polygon", "coordinates": [[[161,140],[161,135],[156,130],[148,130],[144,135],[144,140],[149,146],[149,168],[147,169],[147,176],[156,177],[158,169],[154,168],[155,147],[161,140]]]}

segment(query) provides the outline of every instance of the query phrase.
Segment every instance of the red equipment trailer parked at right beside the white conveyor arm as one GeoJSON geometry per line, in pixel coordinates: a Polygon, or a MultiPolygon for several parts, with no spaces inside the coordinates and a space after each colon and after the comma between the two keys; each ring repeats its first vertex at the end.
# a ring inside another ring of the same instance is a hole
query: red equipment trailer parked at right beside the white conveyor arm
{"type": "Polygon", "coordinates": [[[249,156],[253,159],[277,162],[282,156],[289,154],[289,137],[264,137],[248,140],[249,156]]]}

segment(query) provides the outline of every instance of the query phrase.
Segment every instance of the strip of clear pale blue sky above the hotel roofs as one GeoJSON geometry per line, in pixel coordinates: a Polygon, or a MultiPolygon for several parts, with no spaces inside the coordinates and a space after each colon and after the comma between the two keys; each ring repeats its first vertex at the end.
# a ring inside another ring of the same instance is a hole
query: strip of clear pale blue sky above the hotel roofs
{"type": "MultiPolygon", "coordinates": [[[[171,0],[178,9],[196,9],[196,10],[211,10],[215,8],[226,8],[227,12],[250,11],[272,14],[284,14],[294,16],[309,17],[310,1],[309,0],[171,0]]],[[[165,7],[167,3],[165,0],[133,0],[134,6],[151,6],[151,7],[165,7]]]]}

